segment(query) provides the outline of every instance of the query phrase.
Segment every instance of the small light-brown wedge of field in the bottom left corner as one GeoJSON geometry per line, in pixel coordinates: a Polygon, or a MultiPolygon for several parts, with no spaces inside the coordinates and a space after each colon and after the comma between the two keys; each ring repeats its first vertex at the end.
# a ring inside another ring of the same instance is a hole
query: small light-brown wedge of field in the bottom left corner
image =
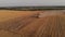
{"type": "Polygon", "coordinates": [[[14,34],[4,29],[0,29],[0,37],[22,37],[20,34],[14,34]]]}

